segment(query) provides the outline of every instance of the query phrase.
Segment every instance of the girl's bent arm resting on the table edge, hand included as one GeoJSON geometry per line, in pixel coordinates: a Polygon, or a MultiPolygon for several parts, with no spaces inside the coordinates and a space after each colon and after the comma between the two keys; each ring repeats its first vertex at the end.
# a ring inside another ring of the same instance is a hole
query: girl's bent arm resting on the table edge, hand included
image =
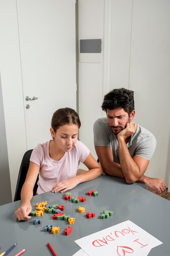
{"type": "Polygon", "coordinates": [[[62,182],[59,182],[52,188],[52,192],[59,192],[61,193],[68,191],[69,189],[74,188],[76,185],[79,183],[88,181],[88,180],[93,180],[97,177],[99,177],[102,174],[102,168],[100,164],[92,157],[91,153],[89,153],[88,157],[85,159],[83,162],[85,166],[89,169],[86,173],[83,173],[81,175],[77,175],[73,178],[70,178],[68,180],[63,180],[62,182]]]}

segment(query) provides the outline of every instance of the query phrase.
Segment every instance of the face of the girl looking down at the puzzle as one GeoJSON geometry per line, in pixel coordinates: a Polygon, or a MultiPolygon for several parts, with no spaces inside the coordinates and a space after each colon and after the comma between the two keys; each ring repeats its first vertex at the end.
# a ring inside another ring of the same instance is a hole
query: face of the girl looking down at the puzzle
{"type": "Polygon", "coordinates": [[[56,133],[54,132],[53,128],[50,130],[57,148],[63,150],[64,152],[69,152],[72,150],[76,144],[78,136],[78,126],[76,124],[65,124],[60,126],[56,133]]]}

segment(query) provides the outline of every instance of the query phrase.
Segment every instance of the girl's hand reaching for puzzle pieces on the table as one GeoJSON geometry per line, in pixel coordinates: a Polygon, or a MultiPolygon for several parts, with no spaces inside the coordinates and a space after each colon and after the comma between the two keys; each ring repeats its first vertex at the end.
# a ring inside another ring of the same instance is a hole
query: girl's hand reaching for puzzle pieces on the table
{"type": "Polygon", "coordinates": [[[31,216],[28,216],[32,211],[31,202],[26,202],[20,206],[17,211],[15,211],[15,214],[18,218],[18,220],[29,220],[31,216]]]}

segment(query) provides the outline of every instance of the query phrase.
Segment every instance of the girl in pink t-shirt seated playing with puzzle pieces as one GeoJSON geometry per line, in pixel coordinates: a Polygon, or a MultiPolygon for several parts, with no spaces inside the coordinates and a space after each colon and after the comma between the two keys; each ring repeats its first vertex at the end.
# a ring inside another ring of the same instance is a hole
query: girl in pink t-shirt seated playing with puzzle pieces
{"type": "Polygon", "coordinates": [[[89,149],[77,140],[80,126],[78,114],[72,108],[60,108],[54,112],[50,128],[52,140],[38,144],[31,154],[21,191],[22,204],[15,212],[18,220],[31,218],[28,215],[32,210],[31,198],[38,173],[37,194],[47,191],[63,193],[102,174],[100,165],[89,149]],[[79,162],[83,162],[89,171],[76,176],[79,162]]]}

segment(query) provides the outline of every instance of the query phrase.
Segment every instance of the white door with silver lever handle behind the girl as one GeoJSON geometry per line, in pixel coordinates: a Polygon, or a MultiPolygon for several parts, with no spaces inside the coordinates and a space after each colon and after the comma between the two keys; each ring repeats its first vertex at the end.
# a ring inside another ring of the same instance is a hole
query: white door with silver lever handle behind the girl
{"type": "Polygon", "coordinates": [[[26,141],[31,149],[50,139],[55,110],[76,110],[75,0],[16,2],[26,141]]]}

